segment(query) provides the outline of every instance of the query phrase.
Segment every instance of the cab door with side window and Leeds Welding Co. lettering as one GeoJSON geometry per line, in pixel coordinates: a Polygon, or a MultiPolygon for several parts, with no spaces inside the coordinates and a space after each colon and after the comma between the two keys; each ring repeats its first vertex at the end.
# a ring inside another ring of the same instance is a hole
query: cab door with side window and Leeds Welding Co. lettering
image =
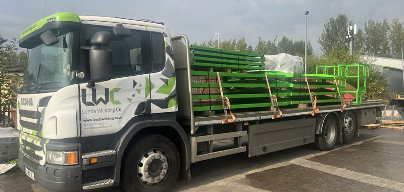
{"type": "MultiPolygon", "coordinates": [[[[113,34],[112,27],[88,25],[83,30],[86,46],[90,46],[95,32],[113,34]]],[[[103,46],[112,51],[112,79],[90,88],[87,83],[80,84],[82,136],[115,133],[134,116],[150,113],[150,89],[154,85],[149,75],[149,32],[132,29],[131,32],[130,37],[112,36],[111,43],[103,46]]]]}

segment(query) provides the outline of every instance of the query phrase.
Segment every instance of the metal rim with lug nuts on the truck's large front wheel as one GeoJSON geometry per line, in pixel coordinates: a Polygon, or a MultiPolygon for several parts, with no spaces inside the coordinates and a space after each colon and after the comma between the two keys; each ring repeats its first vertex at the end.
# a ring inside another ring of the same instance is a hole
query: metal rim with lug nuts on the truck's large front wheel
{"type": "Polygon", "coordinates": [[[145,186],[159,185],[169,172],[169,159],[161,149],[144,153],[138,162],[137,178],[145,186]]]}

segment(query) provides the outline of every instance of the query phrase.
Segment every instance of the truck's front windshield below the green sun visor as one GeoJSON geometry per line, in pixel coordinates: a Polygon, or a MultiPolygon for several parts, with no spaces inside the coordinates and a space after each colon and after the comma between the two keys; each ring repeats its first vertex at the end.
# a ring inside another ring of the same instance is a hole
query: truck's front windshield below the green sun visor
{"type": "Polygon", "coordinates": [[[72,60],[72,32],[59,35],[59,42],[40,44],[27,51],[21,93],[52,92],[69,85],[72,60]]]}

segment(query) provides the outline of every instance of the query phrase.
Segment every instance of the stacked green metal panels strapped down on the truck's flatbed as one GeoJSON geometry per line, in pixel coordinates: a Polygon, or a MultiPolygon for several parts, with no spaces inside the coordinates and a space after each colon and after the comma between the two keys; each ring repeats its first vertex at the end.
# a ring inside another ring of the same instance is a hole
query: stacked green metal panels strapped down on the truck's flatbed
{"type": "MultiPolygon", "coordinates": [[[[277,96],[278,105],[281,108],[311,104],[306,76],[280,71],[264,71],[262,62],[265,59],[261,54],[191,45],[190,59],[195,112],[223,110],[217,72],[219,72],[224,96],[229,98],[232,110],[251,108],[268,110],[268,107],[272,106],[265,75],[268,77],[271,92],[277,96]],[[228,67],[228,65],[234,66],[228,67]],[[252,68],[240,72],[238,69],[245,69],[240,66],[252,68]],[[224,70],[224,68],[231,70],[224,70]]],[[[338,81],[339,76],[307,75],[310,90],[317,95],[317,103],[340,102],[334,78],[338,81]]]]}

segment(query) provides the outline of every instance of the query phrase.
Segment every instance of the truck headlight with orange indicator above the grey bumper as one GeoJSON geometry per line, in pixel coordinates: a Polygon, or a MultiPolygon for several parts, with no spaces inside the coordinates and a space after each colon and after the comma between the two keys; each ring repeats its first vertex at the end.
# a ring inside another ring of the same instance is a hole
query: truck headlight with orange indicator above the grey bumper
{"type": "Polygon", "coordinates": [[[77,152],[46,151],[46,162],[58,165],[77,165],[77,152]]]}

